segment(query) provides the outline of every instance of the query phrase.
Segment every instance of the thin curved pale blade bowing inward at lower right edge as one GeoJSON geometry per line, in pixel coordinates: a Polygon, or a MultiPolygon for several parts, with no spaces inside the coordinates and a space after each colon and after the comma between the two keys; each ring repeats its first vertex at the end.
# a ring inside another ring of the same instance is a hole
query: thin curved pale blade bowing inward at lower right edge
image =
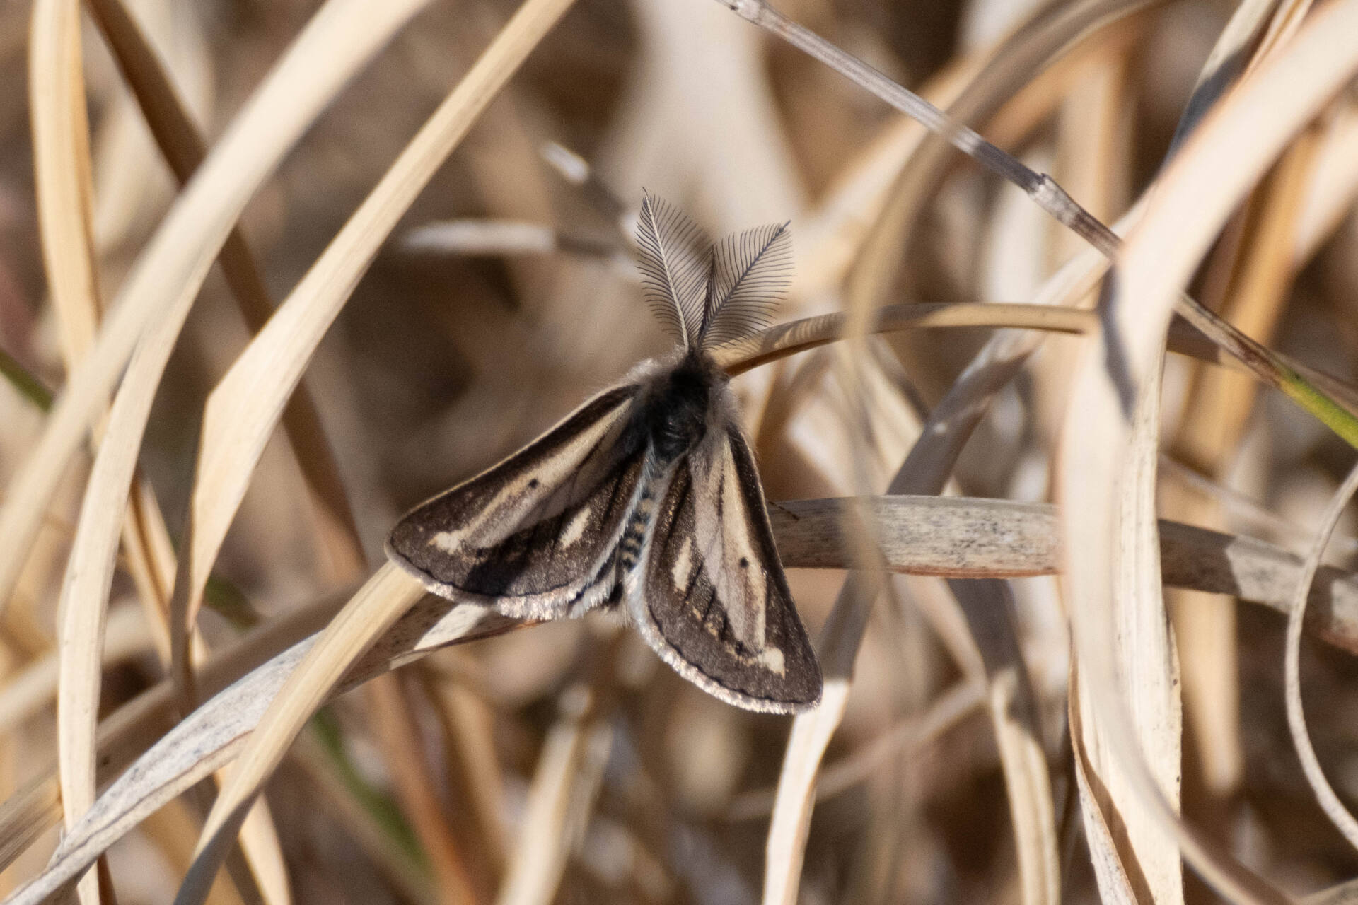
{"type": "Polygon", "coordinates": [[[1325,555],[1329,536],[1339,524],[1339,517],[1344,513],[1354,493],[1358,493],[1358,465],[1348,471],[1344,483],[1335,491],[1334,499],[1320,522],[1316,533],[1316,543],[1301,567],[1301,577],[1297,579],[1297,590],[1291,598],[1291,612],[1287,615],[1287,643],[1283,651],[1283,689],[1287,699],[1287,730],[1291,733],[1291,744],[1301,758],[1301,768],[1306,773],[1306,782],[1316,792],[1316,801],[1329,822],[1344,834],[1348,844],[1358,848],[1358,820],[1344,807],[1335,794],[1329,780],[1325,779],[1316,757],[1316,749],[1310,744],[1310,733],[1306,731],[1306,714],[1301,707],[1301,628],[1306,616],[1306,601],[1310,596],[1310,582],[1320,569],[1320,559],[1325,555]]]}

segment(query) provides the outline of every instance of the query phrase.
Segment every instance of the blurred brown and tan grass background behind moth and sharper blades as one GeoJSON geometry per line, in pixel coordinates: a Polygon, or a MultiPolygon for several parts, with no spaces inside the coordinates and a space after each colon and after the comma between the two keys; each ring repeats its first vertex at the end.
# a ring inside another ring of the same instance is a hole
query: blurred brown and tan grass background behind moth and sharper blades
{"type": "MultiPolygon", "coordinates": [[[[316,8],[295,0],[129,5],[209,144],[316,8]]],[[[999,41],[1040,12],[1016,0],[794,0],[779,8],[898,81],[936,92],[974,75],[999,41]]],[[[274,299],[306,273],[512,11],[500,0],[430,4],[310,129],[242,221],[274,299]]],[[[978,128],[1111,223],[1156,175],[1230,14],[1229,4],[1209,0],[1139,5],[1047,75],[991,87],[995,111],[978,128]]],[[[23,0],[0,7],[0,347],[57,388],[64,369],[37,228],[27,18],[23,0]]],[[[88,23],[84,61],[94,240],[111,299],[175,189],[88,23]]],[[[1351,118],[1354,102],[1351,92],[1340,98],[1334,115],[1351,118]]],[[[373,566],[384,533],[409,506],[493,464],[665,347],[634,278],[615,261],[629,254],[625,212],[564,179],[545,161],[545,142],[587,160],[626,210],[645,186],[714,233],[790,218],[804,281],[785,308],[789,319],[841,307],[846,274],[868,266],[858,259],[864,235],[911,160],[898,114],[720,4],[579,0],[406,213],[307,372],[373,566]],[[536,224],[554,232],[559,248],[466,255],[403,240],[447,220],[536,224]]],[[[1076,250],[1025,198],[966,161],[942,170],[917,201],[909,244],[894,252],[900,261],[891,269],[892,301],[1023,301],[1076,250]]],[[[1347,206],[1253,313],[1237,315],[1262,342],[1353,380],[1358,221],[1347,206]]],[[[1221,243],[1251,248],[1249,229],[1258,228],[1258,218],[1243,217],[1221,243]]],[[[1214,255],[1194,289],[1230,312],[1244,265],[1221,248],[1214,255]]],[[[140,453],[172,537],[183,529],[206,393],[247,338],[215,273],[171,358],[140,453]]],[[[845,426],[850,391],[828,350],[739,379],[769,498],[853,493],[857,475],[880,493],[922,412],[983,339],[982,331],[928,331],[869,343],[877,383],[856,389],[868,395],[870,442],[845,426]]],[[[956,469],[967,495],[1050,499],[1074,342],[1047,341],[1001,393],[956,469]]],[[[1275,393],[1211,374],[1219,372],[1169,362],[1167,455],[1312,528],[1347,468],[1347,448],[1275,393]]],[[[5,482],[41,422],[30,399],[0,383],[5,482]]],[[[1304,548],[1305,532],[1260,528],[1248,507],[1176,475],[1167,468],[1161,478],[1165,514],[1304,548]]],[[[52,649],[79,497],[69,482],[0,627],[0,663],[11,678],[52,649]]],[[[297,465],[276,438],[216,574],[251,619],[268,620],[335,588],[335,564],[318,535],[297,465]]],[[[1351,566],[1351,545],[1336,544],[1336,554],[1351,566]]],[[[842,573],[793,570],[789,579],[815,635],[842,573]]],[[[1043,716],[1062,898],[1096,901],[1066,730],[1062,601],[1055,579],[1012,583],[1043,716]]],[[[800,901],[1020,901],[1005,779],[979,700],[945,726],[896,731],[915,726],[967,677],[938,606],[928,602],[930,593],[947,593],[941,585],[903,581],[896,590],[872,612],[826,764],[877,753],[818,805],[800,901]]],[[[113,601],[130,605],[134,593],[120,573],[113,601]]],[[[1191,613],[1176,621],[1186,815],[1285,887],[1353,877],[1358,858],[1315,806],[1287,739],[1282,620],[1228,598],[1173,605],[1191,613]]],[[[220,612],[205,615],[202,628],[215,643],[239,631],[220,612]]],[[[133,636],[141,643],[129,643],[105,673],[105,711],[163,676],[149,632],[133,636]]],[[[1304,653],[1312,734],[1340,795],[1351,799],[1358,669],[1342,651],[1308,643],[1304,653]]],[[[268,787],[295,901],[496,901],[521,840],[530,783],[579,682],[604,691],[606,703],[596,704],[604,718],[593,765],[580,768],[592,790],[570,798],[572,855],[545,901],[759,901],[769,790],[786,719],[709,699],[640,639],[615,638],[595,620],[477,642],[397,676],[395,699],[364,691],[330,707],[268,787]]],[[[50,707],[5,727],[5,790],[46,769],[52,727],[50,707]]],[[[120,901],[171,901],[194,820],[189,806],[167,807],[111,849],[120,901]]],[[[35,872],[53,841],[49,833],[0,874],[0,886],[35,872]]],[[[242,894],[225,882],[215,893],[221,902],[249,901],[242,894]]],[[[1214,901],[1192,879],[1184,898],[1214,901]]]]}

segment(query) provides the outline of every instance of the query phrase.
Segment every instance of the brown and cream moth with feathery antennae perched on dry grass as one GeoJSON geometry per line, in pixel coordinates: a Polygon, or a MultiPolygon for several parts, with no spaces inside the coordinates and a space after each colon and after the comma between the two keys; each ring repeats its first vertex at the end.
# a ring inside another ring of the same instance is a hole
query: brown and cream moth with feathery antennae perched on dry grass
{"type": "Polygon", "coordinates": [[[435,594],[505,616],[621,609],[721,700],[808,710],[820,701],[820,666],[712,357],[770,319],[792,275],[792,235],[774,224],[713,243],[646,194],[637,247],[644,296],[675,349],[417,506],[387,555],[435,594]]]}

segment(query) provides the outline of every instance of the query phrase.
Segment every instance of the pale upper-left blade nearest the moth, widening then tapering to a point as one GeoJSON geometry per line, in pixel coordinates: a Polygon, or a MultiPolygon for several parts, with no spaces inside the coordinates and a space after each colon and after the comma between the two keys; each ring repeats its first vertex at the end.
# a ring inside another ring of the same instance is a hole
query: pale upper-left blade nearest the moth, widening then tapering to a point
{"type": "MultiPolygon", "coordinates": [[[[213,389],[198,444],[187,564],[171,608],[181,655],[250,475],[320,338],[435,170],[572,1],[528,0],[519,8],[213,389]]],[[[175,672],[187,676],[182,659],[175,672]]]]}

